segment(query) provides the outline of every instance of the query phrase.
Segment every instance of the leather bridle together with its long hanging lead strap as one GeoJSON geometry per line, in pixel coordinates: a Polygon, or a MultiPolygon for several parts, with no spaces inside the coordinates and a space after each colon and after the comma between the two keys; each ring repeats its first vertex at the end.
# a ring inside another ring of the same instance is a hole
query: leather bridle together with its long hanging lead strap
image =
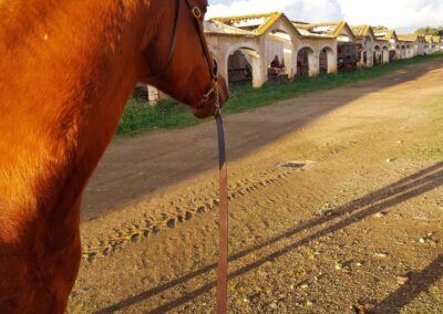
{"type": "MultiPolygon", "coordinates": [[[[222,111],[218,94],[218,65],[213,60],[203,28],[203,12],[202,9],[194,4],[192,0],[185,0],[187,8],[189,9],[196,28],[198,36],[200,39],[202,49],[205,53],[205,59],[209,67],[209,74],[212,78],[210,88],[203,94],[198,107],[206,105],[212,97],[215,98],[215,118],[217,123],[217,138],[218,138],[218,158],[219,158],[219,253],[218,253],[218,274],[217,274],[217,313],[227,313],[227,282],[228,282],[228,174],[226,163],[226,149],[225,149],[225,133],[222,121],[222,111]]],[[[178,20],[182,10],[182,0],[177,0],[177,7],[174,20],[174,33],[171,41],[169,54],[163,70],[150,77],[151,80],[159,78],[163,76],[171,66],[171,63],[175,53],[175,44],[177,38],[178,20]]]]}

